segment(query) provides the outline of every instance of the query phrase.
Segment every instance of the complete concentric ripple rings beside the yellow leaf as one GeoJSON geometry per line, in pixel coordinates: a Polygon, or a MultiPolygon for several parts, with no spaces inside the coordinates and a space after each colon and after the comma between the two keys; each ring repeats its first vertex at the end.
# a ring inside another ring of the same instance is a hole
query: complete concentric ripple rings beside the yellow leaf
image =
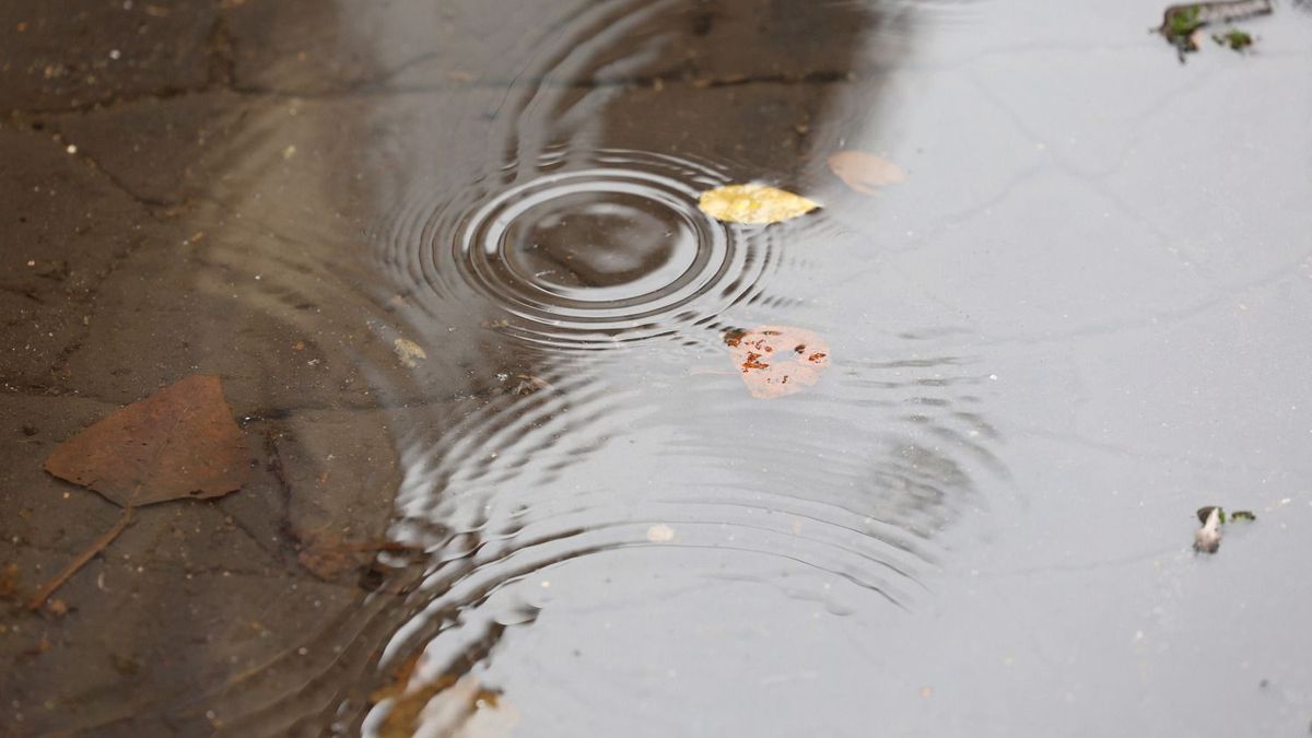
{"type": "Polygon", "coordinates": [[[474,290],[509,314],[506,334],[560,348],[669,335],[761,297],[773,235],[697,206],[719,172],[636,152],[588,164],[544,163],[552,171],[436,213],[416,204],[390,247],[419,248],[416,293],[474,290]]]}

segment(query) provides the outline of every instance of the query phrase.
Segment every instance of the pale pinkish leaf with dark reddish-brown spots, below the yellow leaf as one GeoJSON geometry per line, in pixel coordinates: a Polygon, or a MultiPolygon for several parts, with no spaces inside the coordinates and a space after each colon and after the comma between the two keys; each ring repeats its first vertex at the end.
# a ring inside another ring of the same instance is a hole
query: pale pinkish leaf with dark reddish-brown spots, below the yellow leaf
{"type": "Polygon", "coordinates": [[[774,399],[799,393],[820,380],[829,345],[806,328],[760,326],[724,336],[733,364],[752,397],[774,399]]]}

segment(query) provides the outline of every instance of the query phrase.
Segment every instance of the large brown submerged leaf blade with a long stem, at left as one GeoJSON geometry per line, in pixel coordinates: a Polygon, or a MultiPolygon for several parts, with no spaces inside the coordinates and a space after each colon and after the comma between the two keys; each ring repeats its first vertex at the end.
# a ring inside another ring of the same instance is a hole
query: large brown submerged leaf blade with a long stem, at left
{"type": "Polygon", "coordinates": [[[119,507],[241,488],[251,453],[219,378],[188,377],[60,444],[46,471],[119,507]]]}

